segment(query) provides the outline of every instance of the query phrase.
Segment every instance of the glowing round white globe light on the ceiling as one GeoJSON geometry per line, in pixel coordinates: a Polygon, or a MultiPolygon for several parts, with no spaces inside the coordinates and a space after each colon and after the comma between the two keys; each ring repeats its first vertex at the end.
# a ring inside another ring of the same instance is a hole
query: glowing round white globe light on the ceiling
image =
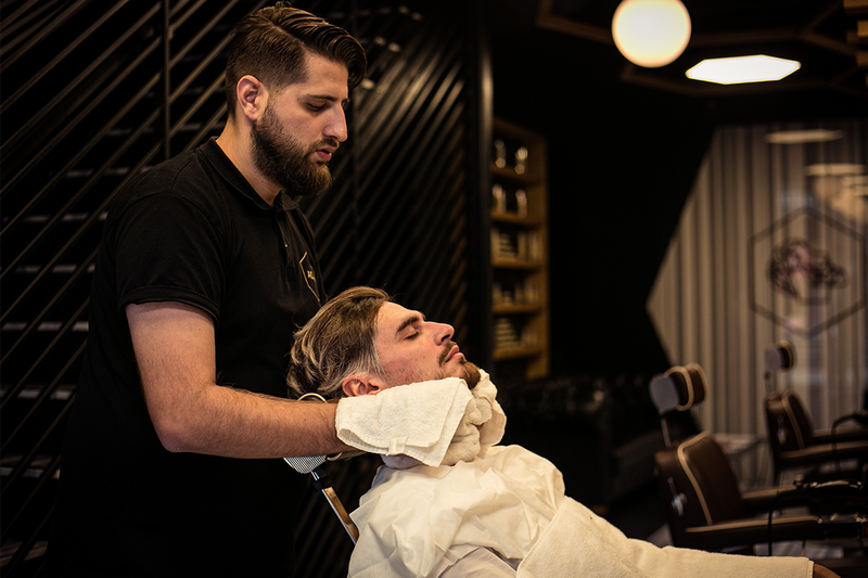
{"type": "Polygon", "coordinates": [[[680,0],[624,0],[612,17],[612,37],[631,63],[665,66],[687,48],[690,14],[680,0]]]}

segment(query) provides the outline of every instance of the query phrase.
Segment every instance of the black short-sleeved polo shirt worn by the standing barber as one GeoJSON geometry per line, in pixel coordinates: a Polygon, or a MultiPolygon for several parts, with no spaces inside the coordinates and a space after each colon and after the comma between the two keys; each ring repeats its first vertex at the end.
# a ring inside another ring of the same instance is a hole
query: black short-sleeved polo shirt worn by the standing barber
{"type": "Polygon", "coordinates": [[[128,576],[289,576],[304,476],[170,453],[148,416],[125,307],[210,314],[221,385],[286,397],[292,334],[324,300],[310,227],[266,204],[214,140],[137,176],[108,211],[63,450],[53,564],[128,576]]]}

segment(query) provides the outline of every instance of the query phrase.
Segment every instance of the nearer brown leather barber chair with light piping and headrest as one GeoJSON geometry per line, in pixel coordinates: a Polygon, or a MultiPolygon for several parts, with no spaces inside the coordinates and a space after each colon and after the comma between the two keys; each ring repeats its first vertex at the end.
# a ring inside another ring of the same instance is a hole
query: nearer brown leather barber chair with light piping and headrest
{"type": "MultiPolygon", "coordinates": [[[[691,364],[655,376],[649,389],[668,439],[667,414],[687,411],[704,400],[706,382],[702,369],[691,364]]],[[[676,547],[753,553],[753,544],[853,538],[863,530],[863,523],[852,519],[830,524],[813,514],[773,516],[773,511],[802,505],[830,490],[789,486],[742,492],[729,459],[707,432],[658,451],[654,474],[676,547]]],[[[860,488],[846,485],[834,489],[864,500],[860,488]]],[[[864,571],[866,566],[859,568],[864,571]]]]}

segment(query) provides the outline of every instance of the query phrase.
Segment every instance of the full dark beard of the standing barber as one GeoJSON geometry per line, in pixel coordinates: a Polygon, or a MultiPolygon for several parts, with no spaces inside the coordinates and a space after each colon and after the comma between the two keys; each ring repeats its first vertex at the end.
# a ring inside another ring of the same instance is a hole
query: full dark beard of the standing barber
{"type": "MultiPolygon", "coordinates": [[[[336,141],[328,144],[337,147],[336,141]]],[[[292,195],[316,196],[331,184],[328,165],[310,159],[322,145],[320,141],[305,151],[302,143],[284,130],[270,106],[266,106],[263,117],[253,125],[252,152],[256,168],[292,195]]]]}

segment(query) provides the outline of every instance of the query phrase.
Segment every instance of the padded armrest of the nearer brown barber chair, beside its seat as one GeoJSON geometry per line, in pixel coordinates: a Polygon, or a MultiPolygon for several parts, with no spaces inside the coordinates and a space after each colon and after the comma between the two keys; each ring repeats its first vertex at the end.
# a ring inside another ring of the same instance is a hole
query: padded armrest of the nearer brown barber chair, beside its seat
{"type": "MultiPolygon", "coordinates": [[[[826,530],[817,516],[780,516],[771,518],[773,541],[821,540],[826,530]]],[[[684,545],[700,550],[722,550],[738,545],[767,543],[768,518],[724,522],[687,528],[684,545]]]]}

